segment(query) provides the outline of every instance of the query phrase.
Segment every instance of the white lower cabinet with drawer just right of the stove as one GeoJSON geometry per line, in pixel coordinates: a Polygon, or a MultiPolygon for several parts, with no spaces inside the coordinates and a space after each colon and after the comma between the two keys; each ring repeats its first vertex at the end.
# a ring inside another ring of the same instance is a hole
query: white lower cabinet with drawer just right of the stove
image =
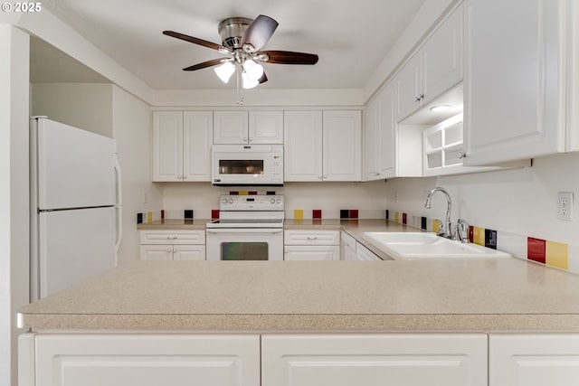
{"type": "Polygon", "coordinates": [[[284,231],[284,260],[339,260],[340,231],[284,231]]]}

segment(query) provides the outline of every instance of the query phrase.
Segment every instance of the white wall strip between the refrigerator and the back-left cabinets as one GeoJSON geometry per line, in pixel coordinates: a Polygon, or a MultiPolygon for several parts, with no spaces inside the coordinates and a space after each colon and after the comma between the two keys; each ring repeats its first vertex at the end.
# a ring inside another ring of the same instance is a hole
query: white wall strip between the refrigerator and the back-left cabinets
{"type": "Polygon", "coordinates": [[[127,91],[113,86],[113,137],[122,173],[123,237],[119,263],[138,259],[138,212],[159,211],[163,208],[162,187],[151,183],[152,113],[146,103],[127,91]],[[147,203],[143,202],[147,193],[147,203]]]}

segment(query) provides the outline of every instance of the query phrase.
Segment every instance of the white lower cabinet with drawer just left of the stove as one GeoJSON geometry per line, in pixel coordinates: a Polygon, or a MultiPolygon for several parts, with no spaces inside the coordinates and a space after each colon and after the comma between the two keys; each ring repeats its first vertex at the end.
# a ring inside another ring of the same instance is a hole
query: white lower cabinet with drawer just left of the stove
{"type": "Polygon", "coordinates": [[[141,260],[204,260],[205,231],[140,231],[141,260]]]}

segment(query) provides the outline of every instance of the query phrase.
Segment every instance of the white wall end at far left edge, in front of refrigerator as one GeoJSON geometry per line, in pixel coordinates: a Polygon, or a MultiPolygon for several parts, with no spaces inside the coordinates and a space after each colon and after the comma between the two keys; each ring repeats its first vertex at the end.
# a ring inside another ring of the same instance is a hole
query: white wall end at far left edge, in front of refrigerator
{"type": "Polygon", "coordinates": [[[16,310],[28,303],[29,37],[0,24],[0,384],[16,385],[16,310]]]}

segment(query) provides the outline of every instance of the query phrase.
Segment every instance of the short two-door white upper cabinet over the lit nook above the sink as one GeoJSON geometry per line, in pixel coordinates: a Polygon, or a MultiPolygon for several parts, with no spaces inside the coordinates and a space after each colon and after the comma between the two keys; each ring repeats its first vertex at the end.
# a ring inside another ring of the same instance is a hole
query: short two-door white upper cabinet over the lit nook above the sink
{"type": "Polygon", "coordinates": [[[460,83],[462,34],[460,5],[396,75],[396,121],[407,118],[460,83]]]}

